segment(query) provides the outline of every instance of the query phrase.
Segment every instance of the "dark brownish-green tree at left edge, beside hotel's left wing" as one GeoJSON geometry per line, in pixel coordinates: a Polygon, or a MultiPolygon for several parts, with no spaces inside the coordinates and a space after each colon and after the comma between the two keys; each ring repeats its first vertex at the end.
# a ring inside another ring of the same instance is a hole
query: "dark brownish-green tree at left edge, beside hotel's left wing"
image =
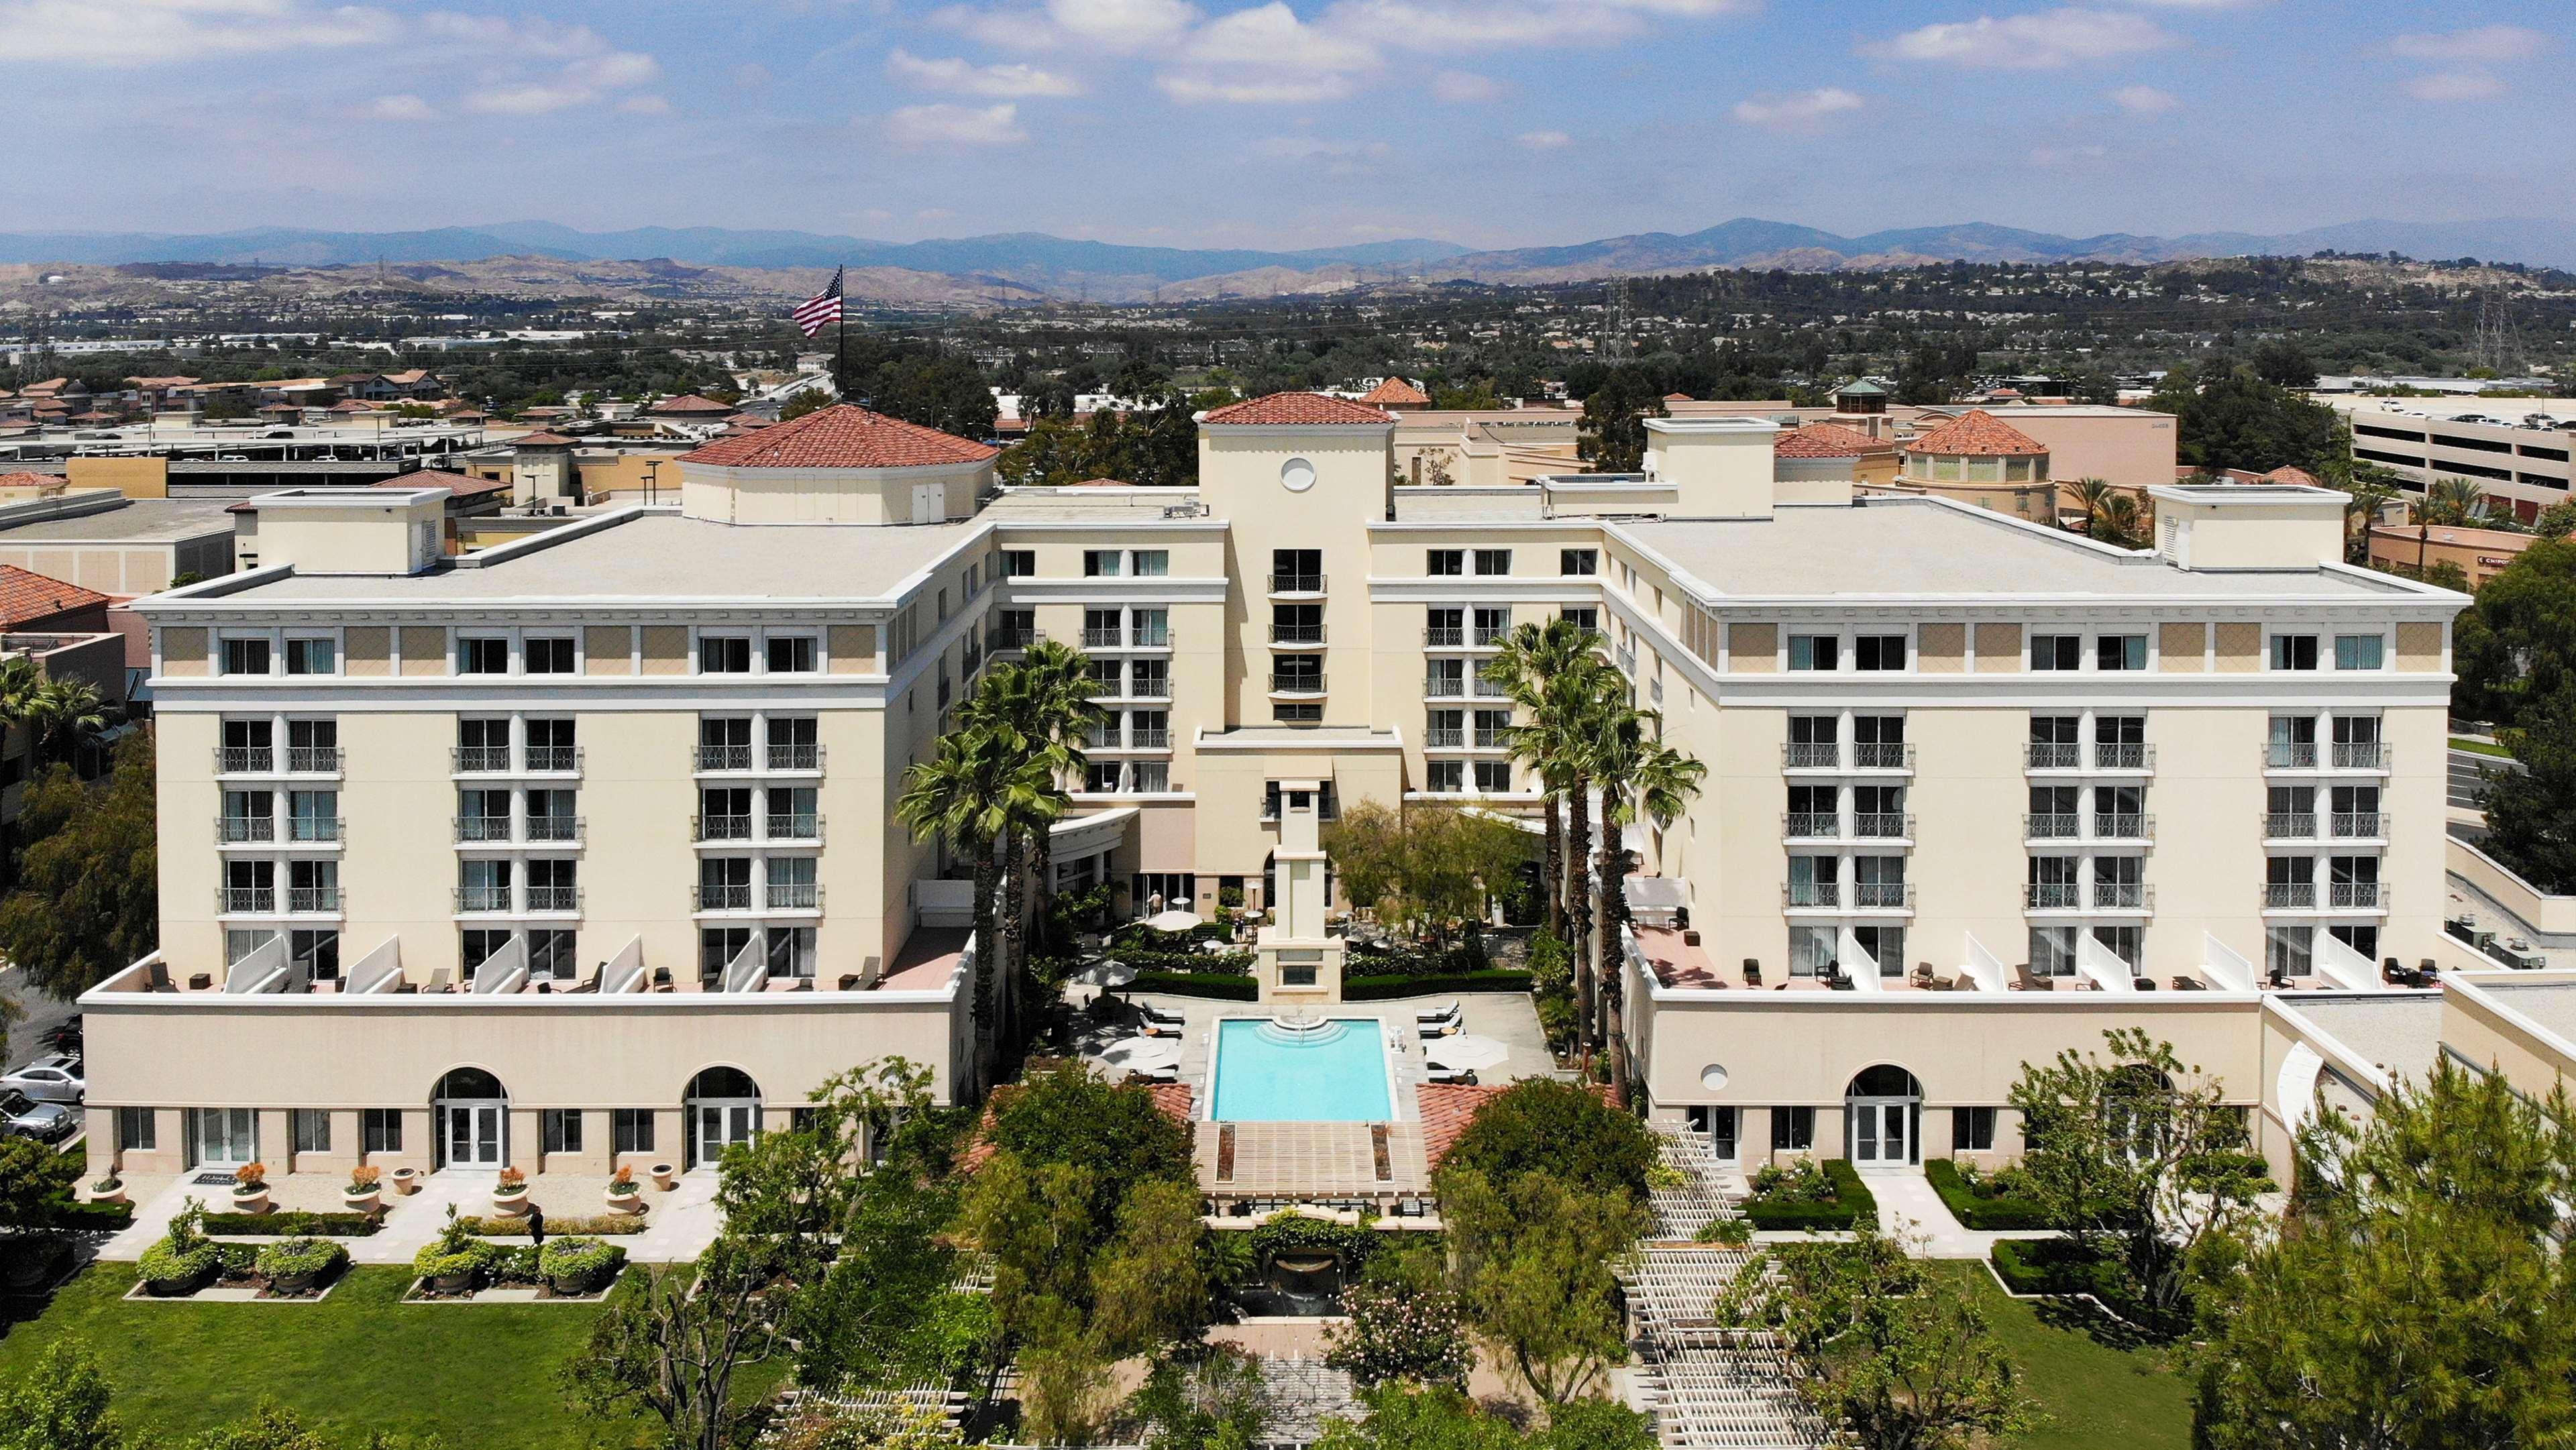
{"type": "Polygon", "coordinates": [[[0,956],[52,997],[77,997],[160,945],[152,734],[116,747],[106,780],[39,775],[18,809],[18,876],[0,956]]]}

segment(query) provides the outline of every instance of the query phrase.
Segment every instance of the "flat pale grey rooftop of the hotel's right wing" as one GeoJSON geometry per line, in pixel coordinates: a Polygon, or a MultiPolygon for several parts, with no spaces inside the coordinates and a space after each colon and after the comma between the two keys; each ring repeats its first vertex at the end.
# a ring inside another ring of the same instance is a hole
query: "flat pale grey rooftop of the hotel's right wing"
{"type": "MultiPolygon", "coordinates": [[[[2231,489],[2241,492],[2241,489],[2231,489]]],[[[2074,533],[1937,500],[1870,497],[1772,518],[1638,520],[1610,528],[1695,574],[1716,598],[2401,598],[2398,579],[2316,569],[2187,572],[2074,533]]]]}

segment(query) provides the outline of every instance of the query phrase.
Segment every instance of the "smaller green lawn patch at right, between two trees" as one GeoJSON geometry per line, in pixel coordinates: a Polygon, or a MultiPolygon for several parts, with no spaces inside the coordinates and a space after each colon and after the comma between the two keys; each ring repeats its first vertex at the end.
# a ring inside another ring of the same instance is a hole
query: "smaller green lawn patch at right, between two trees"
{"type": "Polygon", "coordinates": [[[1955,1265],[1984,1295],[1994,1332],[2030,1375],[2048,1424],[2014,1450],[2182,1450],[2192,1442],[2192,1386],[2169,1352],[2128,1350],[2087,1334],[2043,1301],[2012,1298],[1981,1265],[1955,1265]]]}

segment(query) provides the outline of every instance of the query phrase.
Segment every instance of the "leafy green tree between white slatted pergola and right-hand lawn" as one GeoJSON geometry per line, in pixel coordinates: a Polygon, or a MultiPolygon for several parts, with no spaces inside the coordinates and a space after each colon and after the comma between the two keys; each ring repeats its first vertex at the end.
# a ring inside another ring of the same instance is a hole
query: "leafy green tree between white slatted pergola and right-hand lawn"
{"type": "Polygon", "coordinates": [[[1808,1368],[1798,1398],[1868,1450],[1976,1450],[2040,1419],[1968,1283],[1873,1223],[1754,1254],[1713,1313],[1780,1334],[1808,1368]]]}

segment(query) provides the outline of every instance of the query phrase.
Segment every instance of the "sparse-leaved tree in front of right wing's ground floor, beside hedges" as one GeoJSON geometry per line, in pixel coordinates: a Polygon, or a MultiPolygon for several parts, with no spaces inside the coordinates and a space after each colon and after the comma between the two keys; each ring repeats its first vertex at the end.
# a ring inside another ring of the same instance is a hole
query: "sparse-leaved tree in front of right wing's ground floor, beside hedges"
{"type": "Polygon", "coordinates": [[[2117,1254],[2141,1308],[2174,1316],[2192,1252],[2272,1182],[2215,1077],[2138,1028],[2102,1043],[2107,1056],[2022,1064],[2009,1095],[2030,1144],[2022,1177],[2050,1223],[2117,1254]]]}

